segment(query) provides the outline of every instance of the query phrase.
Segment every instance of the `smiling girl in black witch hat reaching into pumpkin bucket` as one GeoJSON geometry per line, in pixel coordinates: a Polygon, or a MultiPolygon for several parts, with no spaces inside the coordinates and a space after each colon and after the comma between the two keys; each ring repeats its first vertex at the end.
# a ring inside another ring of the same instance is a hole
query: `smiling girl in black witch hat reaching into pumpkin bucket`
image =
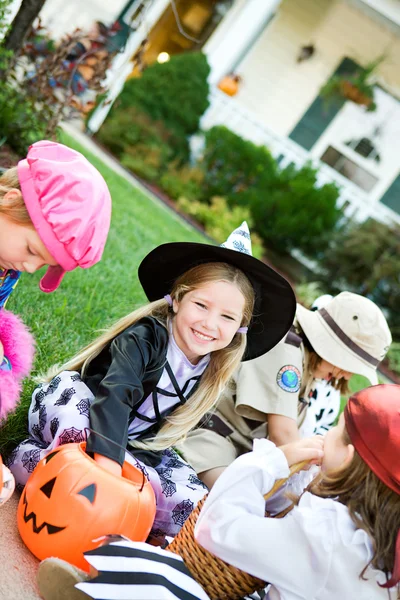
{"type": "Polygon", "coordinates": [[[288,331],[290,285],[251,256],[246,223],[222,246],[170,243],[142,261],[150,303],[118,321],[33,393],[29,439],[8,464],[24,484],[54,447],[81,441],[119,474],[128,446],[156,493],[155,537],[175,535],[206,493],[172,449],[213,406],[240,361],[288,331]],[[99,434],[99,435],[96,435],[99,434]]]}

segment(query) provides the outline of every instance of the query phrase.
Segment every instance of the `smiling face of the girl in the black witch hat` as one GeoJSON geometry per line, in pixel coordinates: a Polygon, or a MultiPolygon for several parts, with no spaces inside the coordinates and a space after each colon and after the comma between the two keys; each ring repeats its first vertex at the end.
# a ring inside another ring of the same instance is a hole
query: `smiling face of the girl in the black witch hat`
{"type": "Polygon", "coordinates": [[[245,306],[243,294],[227,281],[213,281],[174,299],[172,332],[192,364],[228,346],[239,329],[245,306]]]}

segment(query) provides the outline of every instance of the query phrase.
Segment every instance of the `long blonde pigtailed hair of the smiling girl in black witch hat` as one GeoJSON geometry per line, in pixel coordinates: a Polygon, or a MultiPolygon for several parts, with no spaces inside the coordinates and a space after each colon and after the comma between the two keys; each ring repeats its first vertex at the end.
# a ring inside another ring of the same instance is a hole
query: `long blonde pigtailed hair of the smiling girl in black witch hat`
{"type": "MultiPolygon", "coordinates": [[[[171,296],[177,302],[188,292],[200,288],[208,283],[227,281],[236,285],[245,299],[241,326],[248,326],[254,308],[254,290],[242,271],[226,263],[205,263],[193,267],[181,275],[171,290],[171,296]]],[[[62,367],[53,367],[45,376],[50,381],[61,371],[80,371],[84,376],[89,363],[110,344],[122,331],[143,319],[144,317],[156,318],[164,327],[168,328],[171,316],[170,307],[166,300],[156,300],[139,308],[126,317],[117,321],[110,329],[94,340],[62,367]]],[[[201,417],[215,404],[218,396],[239,366],[246,348],[246,336],[236,334],[231,343],[221,350],[211,353],[210,362],[200,380],[200,385],[190,397],[190,401],[174,410],[162,424],[158,433],[146,441],[132,440],[131,446],[149,450],[164,450],[181,442],[186,434],[193,429],[201,417]]]]}

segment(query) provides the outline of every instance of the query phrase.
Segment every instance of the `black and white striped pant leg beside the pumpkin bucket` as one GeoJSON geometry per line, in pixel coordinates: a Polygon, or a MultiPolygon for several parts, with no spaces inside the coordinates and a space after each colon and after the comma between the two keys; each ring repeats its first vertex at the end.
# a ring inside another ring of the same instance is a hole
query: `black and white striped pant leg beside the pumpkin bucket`
{"type": "Polygon", "coordinates": [[[209,600],[176,554],[118,541],[85,553],[98,576],[76,587],[96,600],[209,600]]]}

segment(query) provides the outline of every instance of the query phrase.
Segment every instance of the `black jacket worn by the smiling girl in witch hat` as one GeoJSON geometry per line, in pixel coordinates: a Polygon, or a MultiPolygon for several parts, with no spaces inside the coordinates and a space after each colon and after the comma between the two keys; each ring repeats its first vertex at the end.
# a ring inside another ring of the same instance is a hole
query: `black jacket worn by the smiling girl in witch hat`
{"type": "Polygon", "coordinates": [[[90,427],[108,439],[91,433],[88,452],[123,464],[129,424],[156,388],[167,350],[168,331],[153,317],[145,317],[120,333],[90,362],[82,378],[95,396],[90,407],[90,427]]]}

